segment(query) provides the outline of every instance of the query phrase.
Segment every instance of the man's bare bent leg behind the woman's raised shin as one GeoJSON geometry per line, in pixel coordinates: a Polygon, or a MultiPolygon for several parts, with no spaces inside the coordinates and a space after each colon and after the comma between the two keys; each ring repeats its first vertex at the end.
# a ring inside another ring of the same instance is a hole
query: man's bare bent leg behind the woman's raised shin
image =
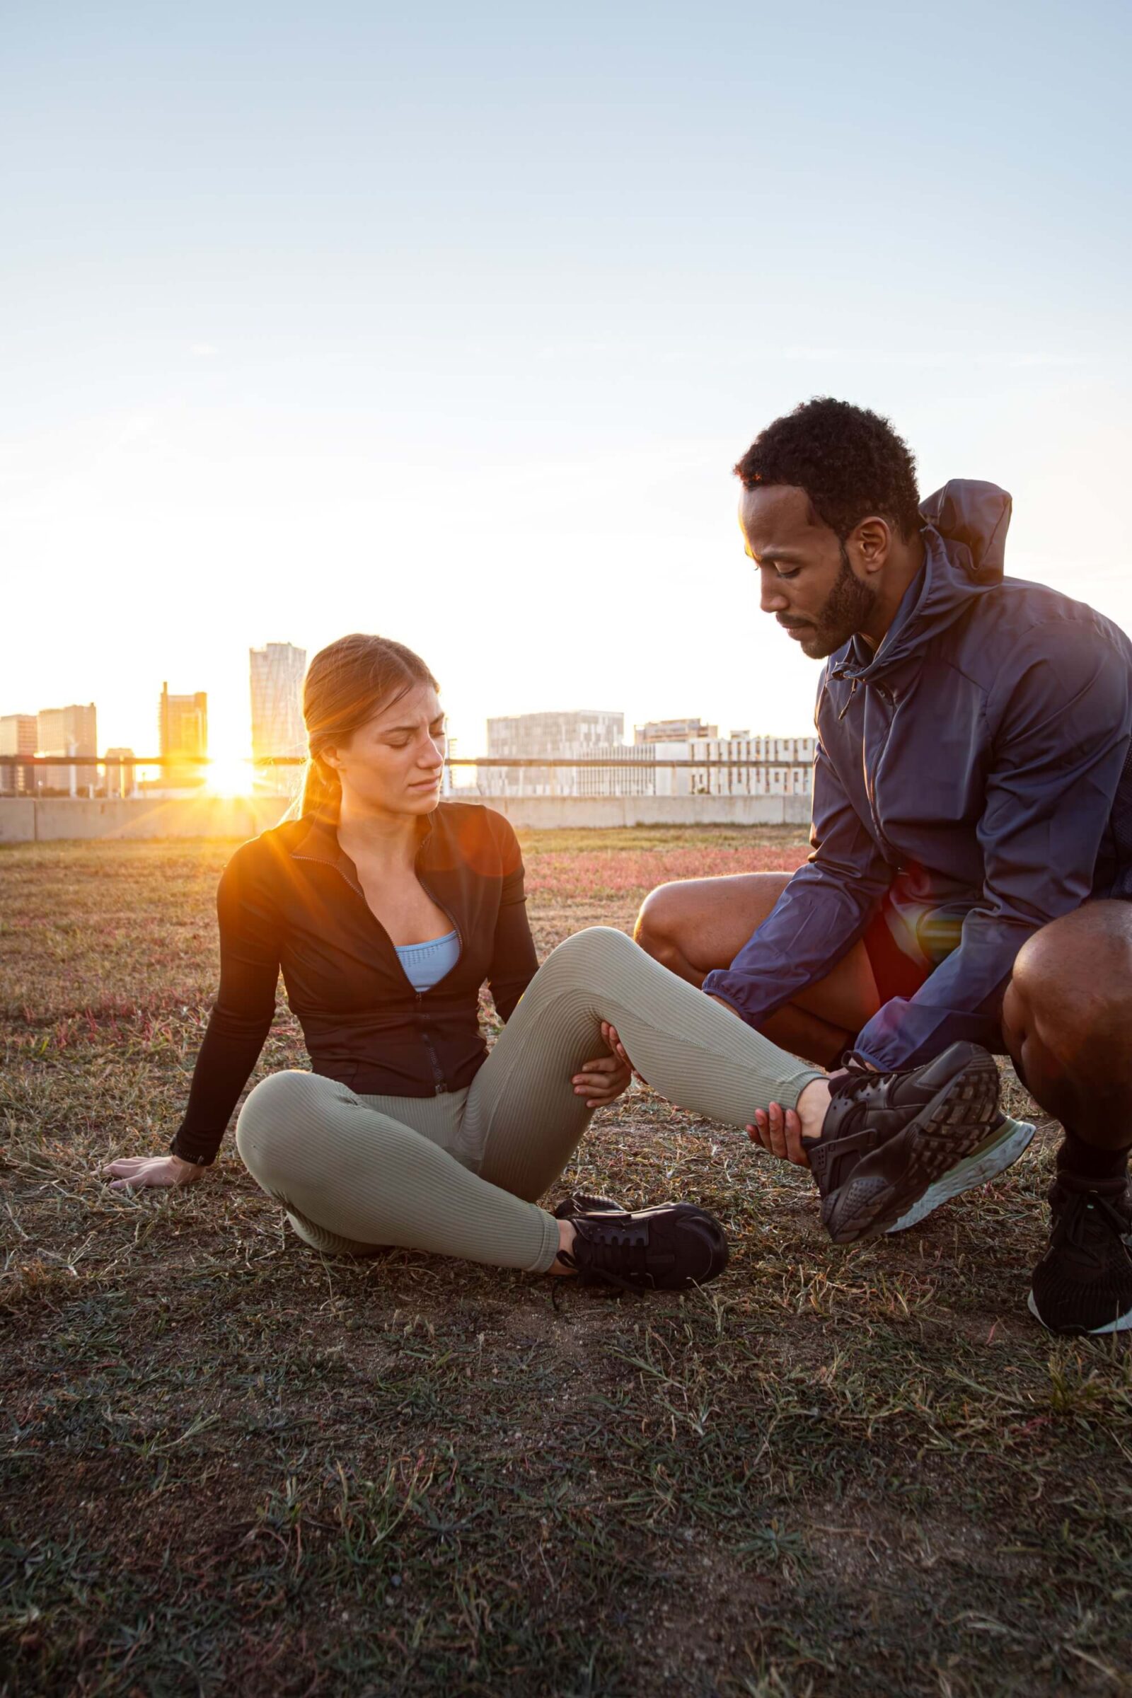
{"type": "MultiPolygon", "coordinates": [[[[735,873],[658,885],[645,897],[633,936],[672,973],[689,985],[703,985],[715,968],[731,964],[789,880],[789,873],[735,873]]],[[[820,983],[771,1014],[759,1031],[791,1054],[828,1068],[879,1007],[872,966],[859,942],[820,983]]]]}

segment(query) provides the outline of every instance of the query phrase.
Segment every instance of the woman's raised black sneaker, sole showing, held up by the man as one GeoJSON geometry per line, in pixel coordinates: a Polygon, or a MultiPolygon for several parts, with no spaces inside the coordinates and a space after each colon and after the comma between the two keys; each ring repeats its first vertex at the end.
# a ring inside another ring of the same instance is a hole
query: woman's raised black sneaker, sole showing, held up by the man
{"type": "Polygon", "coordinates": [[[998,1068],[978,1044],[952,1044],[898,1073],[835,1073],[821,1138],[804,1141],[833,1243],[886,1233],[998,1119],[998,1068]]]}

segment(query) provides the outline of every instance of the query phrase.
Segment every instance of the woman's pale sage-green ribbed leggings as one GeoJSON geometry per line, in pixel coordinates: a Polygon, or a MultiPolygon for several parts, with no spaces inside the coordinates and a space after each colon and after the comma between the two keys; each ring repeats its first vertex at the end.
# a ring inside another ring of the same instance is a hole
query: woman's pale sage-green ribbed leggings
{"type": "Polygon", "coordinates": [[[535,1199],[589,1124],[572,1075],[602,1053],[601,1020],[655,1090],[728,1126],[794,1107],[823,1077],[594,925],[546,958],[467,1090],[360,1097],[319,1073],[273,1073],[239,1112],[238,1150],[319,1250],[402,1245],[545,1274],[558,1223],[535,1199]]]}

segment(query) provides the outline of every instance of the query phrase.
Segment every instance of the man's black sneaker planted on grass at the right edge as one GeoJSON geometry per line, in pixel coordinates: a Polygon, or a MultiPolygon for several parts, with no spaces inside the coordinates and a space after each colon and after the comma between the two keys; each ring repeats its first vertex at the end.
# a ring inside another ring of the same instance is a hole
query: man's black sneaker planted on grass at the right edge
{"type": "Polygon", "coordinates": [[[1049,1202],[1054,1229],[1034,1268],[1030,1314],[1051,1333],[1127,1333],[1132,1328],[1127,1180],[1059,1173],[1049,1202]]]}

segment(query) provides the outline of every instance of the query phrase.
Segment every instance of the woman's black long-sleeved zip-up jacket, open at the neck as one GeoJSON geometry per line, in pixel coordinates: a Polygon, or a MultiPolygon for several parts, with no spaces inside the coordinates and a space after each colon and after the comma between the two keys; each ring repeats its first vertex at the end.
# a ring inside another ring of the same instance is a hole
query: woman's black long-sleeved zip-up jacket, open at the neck
{"type": "Polygon", "coordinates": [[[538,968],[514,830],[494,808],[441,801],[421,822],[416,873],[460,934],[431,990],[406,978],[334,825],[307,815],[243,844],[217,891],[221,988],[171,1143],[209,1163],[275,1014],[280,968],[316,1073],[361,1095],[431,1097],[470,1085],[487,1046],[484,981],[506,1020],[538,968]]]}

